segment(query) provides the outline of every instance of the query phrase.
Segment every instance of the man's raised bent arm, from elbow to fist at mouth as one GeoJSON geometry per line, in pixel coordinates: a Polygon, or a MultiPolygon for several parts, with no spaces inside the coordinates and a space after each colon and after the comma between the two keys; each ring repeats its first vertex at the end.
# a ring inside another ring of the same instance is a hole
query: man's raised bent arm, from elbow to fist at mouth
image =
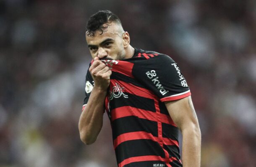
{"type": "Polygon", "coordinates": [[[109,67],[97,57],[89,71],[94,79],[94,87],[78,123],[80,138],[85,144],[94,143],[102,129],[104,101],[111,76],[109,67]]]}

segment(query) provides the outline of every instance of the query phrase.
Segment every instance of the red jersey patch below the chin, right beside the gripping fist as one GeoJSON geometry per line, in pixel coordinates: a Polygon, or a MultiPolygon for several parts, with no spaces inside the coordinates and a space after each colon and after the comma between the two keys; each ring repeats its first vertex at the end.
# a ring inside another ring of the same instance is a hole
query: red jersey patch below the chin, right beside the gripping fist
{"type": "Polygon", "coordinates": [[[128,61],[118,61],[117,64],[113,64],[111,66],[111,71],[122,73],[123,75],[134,78],[132,74],[133,65],[133,63],[130,63],[128,61]]]}

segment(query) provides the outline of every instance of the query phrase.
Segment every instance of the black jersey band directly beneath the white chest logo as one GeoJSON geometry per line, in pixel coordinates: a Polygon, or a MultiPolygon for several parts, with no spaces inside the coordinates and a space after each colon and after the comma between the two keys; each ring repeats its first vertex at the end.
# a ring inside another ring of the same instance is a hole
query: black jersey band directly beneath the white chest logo
{"type": "Polygon", "coordinates": [[[125,92],[124,94],[128,95],[128,98],[120,96],[119,98],[114,97],[112,100],[110,100],[110,110],[123,106],[131,106],[138,109],[156,112],[153,99],[136,96],[134,94],[129,94],[127,92],[125,92]]]}

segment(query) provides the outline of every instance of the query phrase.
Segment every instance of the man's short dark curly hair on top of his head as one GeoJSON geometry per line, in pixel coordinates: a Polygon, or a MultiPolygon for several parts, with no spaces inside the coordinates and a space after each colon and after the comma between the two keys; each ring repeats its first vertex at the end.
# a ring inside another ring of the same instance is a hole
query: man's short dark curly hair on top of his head
{"type": "Polygon", "coordinates": [[[96,30],[101,30],[102,33],[105,32],[106,28],[111,22],[118,23],[122,26],[121,20],[117,15],[109,10],[100,10],[99,12],[91,15],[89,18],[86,26],[86,35],[94,36],[94,32],[96,30]],[[107,23],[107,25],[103,26],[105,23],[107,23]]]}

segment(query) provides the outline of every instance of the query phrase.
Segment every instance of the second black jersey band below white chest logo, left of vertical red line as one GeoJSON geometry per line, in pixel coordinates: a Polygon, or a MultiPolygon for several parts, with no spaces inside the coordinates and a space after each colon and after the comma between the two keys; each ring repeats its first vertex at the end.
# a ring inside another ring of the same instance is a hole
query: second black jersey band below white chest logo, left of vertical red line
{"type": "Polygon", "coordinates": [[[128,132],[148,132],[157,137],[157,122],[141,119],[137,116],[125,116],[112,121],[113,140],[120,134],[128,132]]]}

